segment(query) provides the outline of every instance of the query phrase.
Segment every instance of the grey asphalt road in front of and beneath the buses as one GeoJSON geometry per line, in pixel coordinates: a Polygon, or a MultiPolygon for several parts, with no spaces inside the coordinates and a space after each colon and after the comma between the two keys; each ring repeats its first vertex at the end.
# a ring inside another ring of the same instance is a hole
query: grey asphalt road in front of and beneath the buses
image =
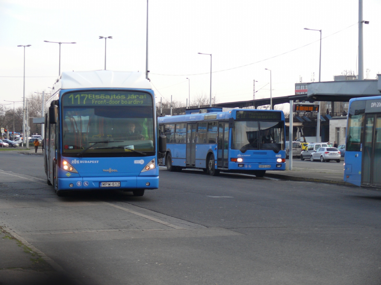
{"type": "Polygon", "coordinates": [[[143,197],[62,198],[42,156],[0,155],[0,223],[80,283],[381,283],[381,192],[160,168],[143,197]]]}

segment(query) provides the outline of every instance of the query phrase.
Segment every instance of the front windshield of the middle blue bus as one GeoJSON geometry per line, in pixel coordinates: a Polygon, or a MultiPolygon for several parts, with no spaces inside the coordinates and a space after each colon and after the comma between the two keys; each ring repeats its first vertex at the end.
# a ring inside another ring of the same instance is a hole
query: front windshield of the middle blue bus
{"type": "Polygon", "coordinates": [[[284,149],[283,122],[235,121],[232,129],[232,149],[247,150],[284,149]]]}

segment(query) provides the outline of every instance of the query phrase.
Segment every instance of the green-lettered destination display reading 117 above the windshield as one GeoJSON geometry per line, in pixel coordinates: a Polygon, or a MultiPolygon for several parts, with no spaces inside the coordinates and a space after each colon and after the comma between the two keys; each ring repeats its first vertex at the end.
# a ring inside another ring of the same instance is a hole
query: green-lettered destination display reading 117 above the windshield
{"type": "Polygon", "coordinates": [[[152,106],[151,95],[131,91],[70,92],[62,99],[64,106],[152,106]]]}

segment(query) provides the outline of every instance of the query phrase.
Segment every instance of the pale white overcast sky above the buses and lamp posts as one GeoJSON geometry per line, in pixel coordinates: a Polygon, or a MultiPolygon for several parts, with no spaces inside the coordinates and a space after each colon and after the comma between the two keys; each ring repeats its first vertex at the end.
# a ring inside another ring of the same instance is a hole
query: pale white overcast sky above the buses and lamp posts
{"type": "MultiPolygon", "coordinates": [[[[363,25],[364,77],[369,69],[374,79],[381,71],[381,1],[363,2],[363,19],[370,21],[363,25]]],[[[0,0],[0,103],[22,100],[20,44],[32,45],[26,47],[26,97],[48,91],[58,77],[59,45],[44,40],[77,42],[61,45],[61,72],[103,69],[104,40],[98,36],[113,36],[107,40],[108,70],[144,72],[146,4],[0,0]]],[[[322,29],[321,80],[331,81],[344,70],[357,74],[357,21],[358,0],[149,0],[149,78],[159,101],[173,95],[185,103],[187,77],[191,100],[209,96],[210,56],[197,52],[211,53],[212,71],[234,68],[212,73],[212,96],[219,103],[253,99],[253,79],[256,90],[270,82],[265,68],[272,70],[273,97],[293,95],[299,76],[310,82],[315,73],[319,80],[319,32],[303,28],[322,29]]],[[[270,84],[256,93],[269,97],[270,84]]]]}

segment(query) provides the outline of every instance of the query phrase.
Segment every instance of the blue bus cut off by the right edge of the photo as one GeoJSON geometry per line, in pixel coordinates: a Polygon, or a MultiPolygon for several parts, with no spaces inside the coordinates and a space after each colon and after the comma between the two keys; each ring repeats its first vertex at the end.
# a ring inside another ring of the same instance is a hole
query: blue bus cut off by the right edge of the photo
{"type": "Polygon", "coordinates": [[[380,190],[381,96],[349,100],[344,181],[380,190]]]}

